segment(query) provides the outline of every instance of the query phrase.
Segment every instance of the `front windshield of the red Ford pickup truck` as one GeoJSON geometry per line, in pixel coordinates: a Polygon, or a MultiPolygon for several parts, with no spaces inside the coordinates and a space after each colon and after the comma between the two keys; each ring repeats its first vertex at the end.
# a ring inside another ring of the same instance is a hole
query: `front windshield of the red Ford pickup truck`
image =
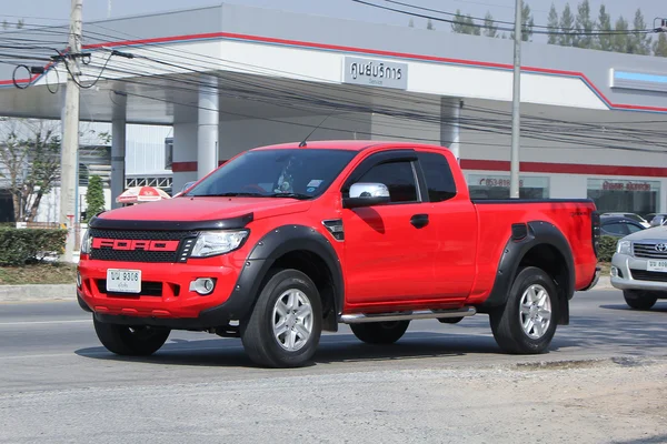
{"type": "Polygon", "coordinates": [[[311,149],[248,151],[185,195],[311,199],[323,193],[356,154],[311,149]]]}

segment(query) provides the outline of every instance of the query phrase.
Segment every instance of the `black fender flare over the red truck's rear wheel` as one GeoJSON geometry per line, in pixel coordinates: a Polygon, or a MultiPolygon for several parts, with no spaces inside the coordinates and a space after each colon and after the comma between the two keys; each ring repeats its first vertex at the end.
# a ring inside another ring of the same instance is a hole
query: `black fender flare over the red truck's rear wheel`
{"type": "Polygon", "coordinates": [[[575,263],[569,243],[560,230],[550,222],[531,221],[512,225],[512,235],[507,241],[498,263],[494,287],[487,300],[478,307],[479,312],[489,312],[507,302],[509,290],[517,275],[519,264],[535,246],[555,248],[565,259],[567,275],[559,285],[560,319],[559,323],[569,322],[569,300],[575,293],[575,263]],[[565,284],[565,285],[563,285],[565,284]]]}

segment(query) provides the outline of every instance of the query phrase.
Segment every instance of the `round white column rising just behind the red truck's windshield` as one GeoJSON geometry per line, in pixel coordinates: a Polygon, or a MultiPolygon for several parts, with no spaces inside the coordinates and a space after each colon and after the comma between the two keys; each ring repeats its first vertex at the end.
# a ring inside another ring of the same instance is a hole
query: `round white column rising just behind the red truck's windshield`
{"type": "Polygon", "coordinates": [[[218,168],[218,78],[202,75],[197,122],[197,179],[218,168]]]}

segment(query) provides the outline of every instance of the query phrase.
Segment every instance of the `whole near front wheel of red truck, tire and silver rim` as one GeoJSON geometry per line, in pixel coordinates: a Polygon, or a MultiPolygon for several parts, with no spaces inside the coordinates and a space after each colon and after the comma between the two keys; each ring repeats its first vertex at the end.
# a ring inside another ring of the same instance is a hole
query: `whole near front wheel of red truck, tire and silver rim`
{"type": "Polygon", "coordinates": [[[241,341],[250,359],[269,367],[305,365],[315,354],[322,330],[322,309],[315,283],[298,270],[276,272],[266,283],[241,341]]]}

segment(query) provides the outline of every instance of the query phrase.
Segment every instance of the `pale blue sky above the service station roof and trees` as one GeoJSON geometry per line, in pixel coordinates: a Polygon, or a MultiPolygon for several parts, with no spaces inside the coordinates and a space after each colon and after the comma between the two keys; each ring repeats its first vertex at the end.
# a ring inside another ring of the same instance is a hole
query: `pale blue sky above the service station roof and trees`
{"type": "MultiPolygon", "coordinates": [[[[386,4],[384,0],[369,0],[378,4],[386,4]]],[[[504,21],[514,21],[515,0],[402,0],[406,3],[434,8],[444,11],[455,12],[460,9],[464,13],[472,17],[484,17],[490,11],[495,19],[504,21]]],[[[200,6],[219,4],[217,0],[83,0],[83,20],[98,20],[109,17],[126,17],[157,11],[168,11],[175,9],[186,9],[200,6]]],[[[381,11],[367,6],[358,4],[351,0],[230,0],[228,3],[239,3],[248,6],[258,6],[263,8],[283,9],[296,12],[316,13],[322,16],[339,17],[362,21],[381,22],[389,24],[407,26],[409,17],[395,12],[381,11]]],[[[558,11],[563,11],[567,1],[554,0],[558,11]]],[[[576,11],[578,0],[569,1],[570,7],[576,11]]],[[[646,21],[653,23],[655,17],[667,18],[667,2],[665,0],[590,0],[594,17],[600,3],[605,3],[611,17],[616,19],[624,16],[631,22],[637,7],[641,8],[646,21]]],[[[67,21],[70,10],[70,0],[23,0],[9,1],[2,0],[6,8],[0,9],[0,20],[14,22],[23,19],[27,24],[54,24],[67,21]],[[8,4],[11,7],[7,8],[8,4]]],[[[549,0],[527,1],[534,11],[535,23],[546,24],[547,14],[551,6],[549,0]]],[[[396,7],[396,6],[394,6],[396,7]]],[[[402,8],[402,7],[397,7],[402,8]]],[[[427,13],[428,14],[428,13],[427,13]]],[[[425,19],[415,19],[415,26],[418,28],[426,26],[425,19]]],[[[449,23],[435,23],[436,29],[449,30],[449,23]]]]}

